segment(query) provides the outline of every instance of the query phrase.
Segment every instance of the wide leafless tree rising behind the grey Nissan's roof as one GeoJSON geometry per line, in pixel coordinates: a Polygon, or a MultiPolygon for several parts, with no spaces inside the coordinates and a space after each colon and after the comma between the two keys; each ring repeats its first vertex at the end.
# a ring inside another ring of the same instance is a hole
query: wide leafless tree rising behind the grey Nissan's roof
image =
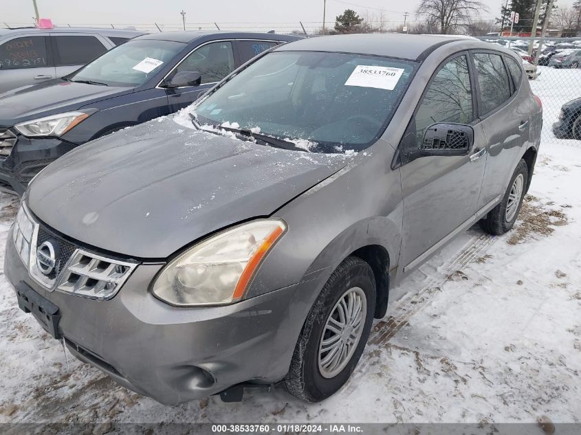
{"type": "Polygon", "coordinates": [[[487,10],[480,0],[421,0],[416,14],[428,21],[436,21],[440,33],[448,34],[458,25],[470,21],[471,14],[487,10]]]}

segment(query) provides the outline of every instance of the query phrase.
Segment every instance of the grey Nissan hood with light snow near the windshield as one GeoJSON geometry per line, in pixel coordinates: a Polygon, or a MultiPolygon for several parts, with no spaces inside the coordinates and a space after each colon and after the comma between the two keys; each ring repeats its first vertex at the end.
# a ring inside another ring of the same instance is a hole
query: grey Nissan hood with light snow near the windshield
{"type": "Polygon", "coordinates": [[[166,258],[210,232],[272,214],[352,158],[272,148],[159,118],[50,164],[31,183],[28,205],[88,245],[166,258]]]}

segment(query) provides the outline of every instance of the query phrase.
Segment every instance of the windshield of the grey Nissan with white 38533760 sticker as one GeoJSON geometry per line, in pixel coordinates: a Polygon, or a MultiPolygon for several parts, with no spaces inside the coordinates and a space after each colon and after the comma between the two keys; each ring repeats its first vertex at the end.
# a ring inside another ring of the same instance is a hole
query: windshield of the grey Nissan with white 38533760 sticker
{"type": "Polygon", "coordinates": [[[225,125],[320,153],[361,150],[384,131],[417,63],[379,56],[272,52],[194,107],[225,125]]]}

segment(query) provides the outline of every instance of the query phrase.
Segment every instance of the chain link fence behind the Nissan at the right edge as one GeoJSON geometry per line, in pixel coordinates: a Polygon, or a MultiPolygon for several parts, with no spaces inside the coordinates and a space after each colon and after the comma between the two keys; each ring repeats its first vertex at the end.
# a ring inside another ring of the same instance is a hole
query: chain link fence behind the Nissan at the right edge
{"type": "Polygon", "coordinates": [[[542,101],[541,143],[581,146],[581,38],[481,38],[523,58],[533,92],[542,101]],[[532,45],[531,45],[532,43],[532,45]]]}

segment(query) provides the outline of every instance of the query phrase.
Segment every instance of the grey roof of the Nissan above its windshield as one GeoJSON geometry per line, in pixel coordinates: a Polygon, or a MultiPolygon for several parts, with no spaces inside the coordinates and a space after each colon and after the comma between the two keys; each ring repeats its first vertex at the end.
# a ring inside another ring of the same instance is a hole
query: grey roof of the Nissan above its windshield
{"type": "Polygon", "coordinates": [[[454,37],[452,35],[382,33],[333,35],[302,39],[301,41],[278,47],[276,51],[342,52],[416,60],[440,45],[461,41],[470,42],[472,45],[483,44],[483,47],[490,47],[490,44],[485,45],[486,43],[480,43],[462,35],[454,37]]]}

